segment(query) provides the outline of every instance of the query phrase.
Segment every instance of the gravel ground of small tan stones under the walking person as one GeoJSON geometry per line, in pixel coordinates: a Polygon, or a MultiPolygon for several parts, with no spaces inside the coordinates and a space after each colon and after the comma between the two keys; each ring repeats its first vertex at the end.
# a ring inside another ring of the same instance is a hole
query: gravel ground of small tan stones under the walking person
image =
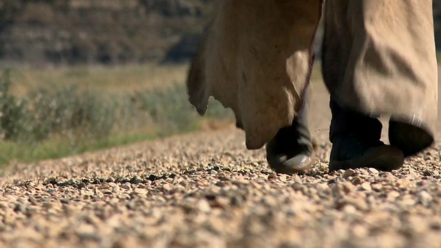
{"type": "Polygon", "coordinates": [[[0,247],[440,247],[439,143],[395,172],[329,174],[327,101],[316,83],[305,175],[271,172],[233,126],[9,167],[0,247]]]}

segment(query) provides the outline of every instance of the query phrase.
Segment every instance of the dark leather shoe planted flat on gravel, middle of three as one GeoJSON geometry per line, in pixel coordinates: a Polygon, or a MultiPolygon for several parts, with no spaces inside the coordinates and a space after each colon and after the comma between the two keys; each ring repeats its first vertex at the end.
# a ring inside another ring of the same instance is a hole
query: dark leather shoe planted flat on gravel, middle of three
{"type": "Polygon", "coordinates": [[[361,167],[391,171],[399,169],[403,163],[404,154],[397,147],[384,145],[381,141],[362,143],[350,134],[345,134],[334,137],[329,172],[361,167]]]}

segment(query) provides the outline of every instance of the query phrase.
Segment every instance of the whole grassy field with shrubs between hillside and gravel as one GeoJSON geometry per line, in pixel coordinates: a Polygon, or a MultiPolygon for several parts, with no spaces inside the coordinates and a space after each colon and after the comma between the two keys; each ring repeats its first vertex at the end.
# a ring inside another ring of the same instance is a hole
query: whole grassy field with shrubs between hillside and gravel
{"type": "Polygon", "coordinates": [[[231,112],[216,101],[205,117],[196,114],[186,70],[187,64],[6,70],[0,167],[231,123],[231,112]]]}

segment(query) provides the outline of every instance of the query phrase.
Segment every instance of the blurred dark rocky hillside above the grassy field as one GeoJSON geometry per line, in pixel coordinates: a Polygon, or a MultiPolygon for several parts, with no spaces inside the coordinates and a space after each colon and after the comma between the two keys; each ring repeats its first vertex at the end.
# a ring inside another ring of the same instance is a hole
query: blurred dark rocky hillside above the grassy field
{"type": "Polygon", "coordinates": [[[187,59],[216,1],[1,0],[0,65],[187,59]]]}

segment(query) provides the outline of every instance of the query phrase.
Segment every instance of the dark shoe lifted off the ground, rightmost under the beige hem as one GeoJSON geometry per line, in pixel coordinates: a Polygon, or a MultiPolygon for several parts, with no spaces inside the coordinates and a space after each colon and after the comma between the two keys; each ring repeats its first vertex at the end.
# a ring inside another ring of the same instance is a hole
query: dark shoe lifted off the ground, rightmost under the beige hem
{"type": "Polygon", "coordinates": [[[430,134],[422,125],[400,121],[389,121],[389,143],[402,150],[404,157],[413,156],[422,152],[434,142],[433,134],[430,134]]]}

